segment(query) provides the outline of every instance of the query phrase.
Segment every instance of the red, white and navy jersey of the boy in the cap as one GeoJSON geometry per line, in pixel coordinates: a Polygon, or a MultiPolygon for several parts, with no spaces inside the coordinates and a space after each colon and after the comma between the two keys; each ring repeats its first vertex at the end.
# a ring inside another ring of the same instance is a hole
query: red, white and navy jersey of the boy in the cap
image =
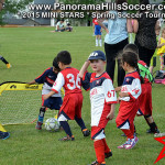
{"type": "MultiPolygon", "coordinates": [[[[107,73],[96,77],[96,73],[85,73],[82,87],[90,89],[91,127],[98,127],[105,106],[117,103],[117,94],[107,73]]],[[[109,107],[110,110],[110,107],[109,107]]]]}

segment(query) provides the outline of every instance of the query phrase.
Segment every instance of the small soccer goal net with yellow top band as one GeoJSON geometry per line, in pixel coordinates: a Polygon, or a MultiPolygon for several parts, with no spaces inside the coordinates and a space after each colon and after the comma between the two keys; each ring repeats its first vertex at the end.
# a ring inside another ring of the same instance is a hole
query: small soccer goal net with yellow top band
{"type": "MultiPolygon", "coordinates": [[[[0,122],[2,124],[36,123],[42,105],[43,85],[7,81],[0,84],[0,122]]],[[[55,110],[46,110],[44,121],[54,118],[55,110]]]]}

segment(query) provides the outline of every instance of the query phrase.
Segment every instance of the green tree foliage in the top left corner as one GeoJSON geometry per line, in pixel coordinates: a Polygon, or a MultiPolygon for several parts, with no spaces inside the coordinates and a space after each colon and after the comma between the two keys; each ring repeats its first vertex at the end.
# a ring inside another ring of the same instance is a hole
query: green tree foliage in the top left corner
{"type": "Polygon", "coordinates": [[[9,13],[18,13],[20,10],[25,9],[25,7],[33,2],[33,0],[0,0],[3,2],[3,9],[0,11],[0,25],[3,25],[3,15],[9,13]]]}

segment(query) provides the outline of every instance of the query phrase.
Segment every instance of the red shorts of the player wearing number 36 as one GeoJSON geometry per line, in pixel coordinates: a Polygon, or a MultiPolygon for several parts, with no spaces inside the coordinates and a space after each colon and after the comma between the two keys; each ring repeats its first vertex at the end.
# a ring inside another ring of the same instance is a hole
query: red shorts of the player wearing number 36
{"type": "Polygon", "coordinates": [[[69,94],[64,97],[59,114],[65,116],[68,120],[74,120],[75,117],[81,118],[82,94],[69,94]]]}

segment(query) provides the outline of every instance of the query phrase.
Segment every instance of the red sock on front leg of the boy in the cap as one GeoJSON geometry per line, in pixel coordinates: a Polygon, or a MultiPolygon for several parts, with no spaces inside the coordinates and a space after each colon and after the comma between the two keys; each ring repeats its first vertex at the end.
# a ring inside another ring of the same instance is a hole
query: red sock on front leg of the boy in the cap
{"type": "Polygon", "coordinates": [[[94,147],[97,156],[98,163],[105,162],[105,144],[102,140],[98,140],[94,142],[94,147]]]}

